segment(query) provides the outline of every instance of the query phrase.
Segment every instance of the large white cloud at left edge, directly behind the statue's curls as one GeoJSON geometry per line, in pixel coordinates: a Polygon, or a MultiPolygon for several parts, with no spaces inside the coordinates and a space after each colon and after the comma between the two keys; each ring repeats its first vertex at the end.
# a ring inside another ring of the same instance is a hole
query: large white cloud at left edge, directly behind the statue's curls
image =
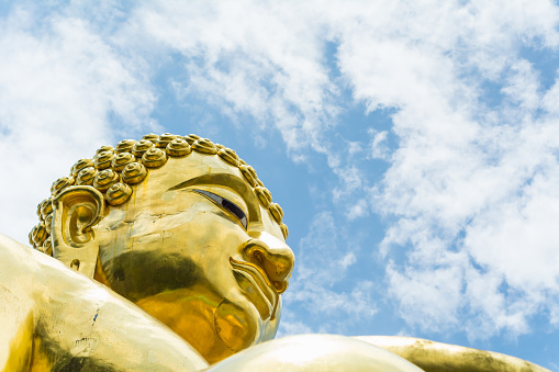
{"type": "Polygon", "coordinates": [[[83,20],[18,10],[0,30],[0,225],[26,243],[38,222],[30,211],[56,177],[119,129],[148,126],[154,95],[139,66],[83,20]],[[123,124],[111,127],[111,115],[123,124]]]}

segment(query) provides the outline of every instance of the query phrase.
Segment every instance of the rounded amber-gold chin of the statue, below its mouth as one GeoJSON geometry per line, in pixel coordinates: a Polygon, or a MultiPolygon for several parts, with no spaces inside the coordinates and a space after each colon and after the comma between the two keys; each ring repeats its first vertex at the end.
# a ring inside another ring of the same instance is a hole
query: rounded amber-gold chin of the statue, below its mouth
{"type": "Polygon", "coordinates": [[[256,309],[223,300],[215,311],[214,327],[223,343],[237,352],[258,341],[262,324],[256,309]]]}

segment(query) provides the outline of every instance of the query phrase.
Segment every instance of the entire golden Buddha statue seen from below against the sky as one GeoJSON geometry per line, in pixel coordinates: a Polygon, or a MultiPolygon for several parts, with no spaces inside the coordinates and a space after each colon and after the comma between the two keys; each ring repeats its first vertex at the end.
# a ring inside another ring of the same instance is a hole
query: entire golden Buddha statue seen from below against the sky
{"type": "Polygon", "coordinates": [[[294,263],[283,212],[195,135],[101,147],[37,215],[34,250],[0,235],[0,371],[546,371],[420,339],[272,340],[294,263]]]}

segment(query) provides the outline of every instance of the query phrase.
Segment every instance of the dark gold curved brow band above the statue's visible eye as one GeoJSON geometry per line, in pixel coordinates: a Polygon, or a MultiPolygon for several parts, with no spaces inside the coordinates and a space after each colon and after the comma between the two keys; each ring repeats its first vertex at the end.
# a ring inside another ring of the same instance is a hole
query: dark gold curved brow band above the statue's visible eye
{"type": "Polygon", "coordinates": [[[202,174],[199,177],[194,177],[190,180],[187,180],[185,182],[181,182],[177,185],[174,185],[168,191],[180,190],[195,185],[210,185],[210,184],[222,185],[234,190],[246,202],[246,206],[248,210],[247,211],[248,222],[255,223],[261,221],[260,207],[258,204],[258,200],[256,199],[256,195],[253,192],[253,189],[248,185],[248,183],[245,180],[234,174],[228,173],[202,174]]]}

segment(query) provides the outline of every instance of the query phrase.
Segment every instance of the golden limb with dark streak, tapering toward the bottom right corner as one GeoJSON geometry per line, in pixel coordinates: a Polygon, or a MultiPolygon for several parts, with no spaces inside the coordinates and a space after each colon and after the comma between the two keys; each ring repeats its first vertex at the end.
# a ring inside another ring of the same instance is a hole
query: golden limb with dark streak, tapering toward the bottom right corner
{"type": "Polygon", "coordinates": [[[427,372],[550,372],[528,361],[499,352],[477,350],[421,338],[395,336],[360,336],[356,338],[389,350],[427,372]]]}

